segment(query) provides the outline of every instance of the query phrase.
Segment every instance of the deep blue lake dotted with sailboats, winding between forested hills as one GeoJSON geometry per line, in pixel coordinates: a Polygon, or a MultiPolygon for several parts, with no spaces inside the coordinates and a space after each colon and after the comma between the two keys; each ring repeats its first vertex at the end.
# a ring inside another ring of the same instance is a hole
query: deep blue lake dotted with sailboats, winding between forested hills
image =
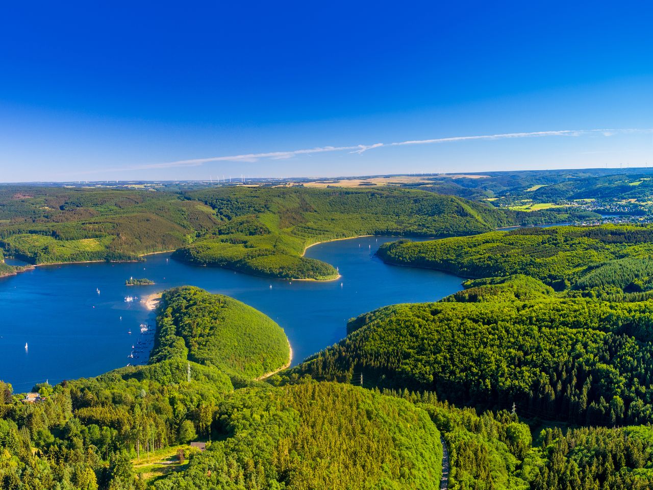
{"type": "Polygon", "coordinates": [[[180,263],[168,253],[138,263],[37,267],[0,279],[0,380],[20,392],[46,379],[56,383],[146,363],[153,337],[140,335],[139,325],[153,326],[154,314],[140,299],[183,285],[229,295],[270,316],[285,330],[295,365],[343,338],[349,318],[387,304],[436,301],[462,289],[456,276],[385,265],[374,256],[379,245],[396,239],[361,237],[309,248],[307,257],[338,267],[342,278],[333,282],[248,276],[180,263]],[[132,276],[156,284],[125,286],[132,276]],[[129,295],[138,299],[125,302],[129,295]],[[139,341],[144,351],[128,359],[139,341]]]}

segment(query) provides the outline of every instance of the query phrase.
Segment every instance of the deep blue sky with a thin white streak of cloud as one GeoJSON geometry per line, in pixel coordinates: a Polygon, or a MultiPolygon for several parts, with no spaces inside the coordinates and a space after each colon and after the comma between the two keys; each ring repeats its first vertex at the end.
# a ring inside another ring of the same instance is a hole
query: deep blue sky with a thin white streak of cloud
{"type": "Polygon", "coordinates": [[[653,164],[646,2],[18,4],[2,182],[653,164]]]}

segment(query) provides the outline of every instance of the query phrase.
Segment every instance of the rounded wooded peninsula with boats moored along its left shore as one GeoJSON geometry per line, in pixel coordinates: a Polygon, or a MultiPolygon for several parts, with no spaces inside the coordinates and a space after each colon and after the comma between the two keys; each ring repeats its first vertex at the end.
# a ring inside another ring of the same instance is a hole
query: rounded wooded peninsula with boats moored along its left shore
{"type": "Polygon", "coordinates": [[[161,297],[150,364],[187,359],[253,379],[290,363],[288,339],[272,319],[227,296],[199,287],[161,297]]]}

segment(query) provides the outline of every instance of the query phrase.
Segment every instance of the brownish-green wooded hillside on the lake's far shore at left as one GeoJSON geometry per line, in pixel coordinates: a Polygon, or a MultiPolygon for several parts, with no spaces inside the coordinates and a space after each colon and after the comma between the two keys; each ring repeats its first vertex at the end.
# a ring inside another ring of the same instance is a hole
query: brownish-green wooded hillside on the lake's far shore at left
{"type": "Polygon", "coordinates": [[[0,246],[33,264],[133,260],[175,250],[219,220],[177,193],[0,188],[0,246]]]}

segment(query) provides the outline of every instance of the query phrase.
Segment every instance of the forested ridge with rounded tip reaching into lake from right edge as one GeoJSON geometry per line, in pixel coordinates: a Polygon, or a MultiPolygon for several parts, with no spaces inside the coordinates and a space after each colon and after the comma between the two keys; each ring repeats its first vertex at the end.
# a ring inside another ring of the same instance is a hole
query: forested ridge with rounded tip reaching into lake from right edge
{"type": "Polygon", "coordinates": [[[475,237],[383,244],[387,263],[471,278],[526,274],[559,291],[643,299],[653,284],[653,227],[520,228],[475,237]],[[638,293],[638,294],[634,294],[638,293]],[[620,295],[620,296],[616,296],[620,295]]]}

